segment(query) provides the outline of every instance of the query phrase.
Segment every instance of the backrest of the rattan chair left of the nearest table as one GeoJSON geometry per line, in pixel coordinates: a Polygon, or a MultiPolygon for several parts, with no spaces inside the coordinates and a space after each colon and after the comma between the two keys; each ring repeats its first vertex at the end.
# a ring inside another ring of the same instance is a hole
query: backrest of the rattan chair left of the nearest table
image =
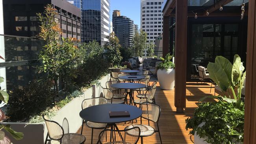
{"type": "Polygon", "coordinates": [[[48,120],[47,116],[43,116],[48,130],[49,138],[52,140],[60,140],[64,136],[64,129],[58,122],[48,120]]]}

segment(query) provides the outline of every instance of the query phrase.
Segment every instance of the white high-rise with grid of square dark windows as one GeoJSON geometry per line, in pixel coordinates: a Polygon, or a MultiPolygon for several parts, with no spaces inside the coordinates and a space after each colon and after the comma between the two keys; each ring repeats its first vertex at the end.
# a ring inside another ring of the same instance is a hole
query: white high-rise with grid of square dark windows
{"type": "Polygon", "coordinates": [[[141,30],[147,33],[147,42],[155,42],[156,37],[163,33],[163,13],[161,12],[163,1],[141,0],[141,30]]]}

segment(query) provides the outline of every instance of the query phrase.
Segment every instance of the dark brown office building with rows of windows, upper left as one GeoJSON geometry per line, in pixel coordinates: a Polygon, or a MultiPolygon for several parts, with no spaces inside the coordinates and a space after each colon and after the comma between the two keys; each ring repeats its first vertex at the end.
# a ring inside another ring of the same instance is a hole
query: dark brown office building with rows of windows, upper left
{"type": "Polygon", "coordinates": [[[62,29],[61,37],[81,39],[81,12],[65,0],[4,0],[4,34],[24,37],[38,35],[39,21],[36,13],[43,13],[52,4],[58,15],[56,21],[62,29]]]}

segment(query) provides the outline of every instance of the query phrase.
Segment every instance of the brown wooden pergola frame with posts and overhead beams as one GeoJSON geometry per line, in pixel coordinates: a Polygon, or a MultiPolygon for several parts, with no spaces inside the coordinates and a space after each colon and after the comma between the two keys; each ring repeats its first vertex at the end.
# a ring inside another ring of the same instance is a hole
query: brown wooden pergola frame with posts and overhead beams
{"type": "MultiPolygon", "coordinates": [[[[209,12],[229,2],[232,0],[221,0],[209,12]]],[[[186,108],[187,17],[193,16],[187,13],[187,0],[168,0],[163,9],[163,56],[169,52],[169,18],[176,17],[174,102],[177,113],[186,108]],[[171,15],[173,9],[175,15],[171,15]]],[[[256,0],[249,0],[248,20],[244,144],[256,144],[256,0]]]]}

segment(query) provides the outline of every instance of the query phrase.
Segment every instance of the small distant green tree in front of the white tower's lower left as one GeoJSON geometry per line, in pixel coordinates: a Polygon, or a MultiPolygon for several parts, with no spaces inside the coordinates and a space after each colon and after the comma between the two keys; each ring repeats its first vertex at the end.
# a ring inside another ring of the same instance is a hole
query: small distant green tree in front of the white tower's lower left
{"type": "Polygon", "coordinates": [[[142,57],[143,51],[147,48],[147,33],[145,31],[136,32],[132,38],[132,56],[142,57]]]}

